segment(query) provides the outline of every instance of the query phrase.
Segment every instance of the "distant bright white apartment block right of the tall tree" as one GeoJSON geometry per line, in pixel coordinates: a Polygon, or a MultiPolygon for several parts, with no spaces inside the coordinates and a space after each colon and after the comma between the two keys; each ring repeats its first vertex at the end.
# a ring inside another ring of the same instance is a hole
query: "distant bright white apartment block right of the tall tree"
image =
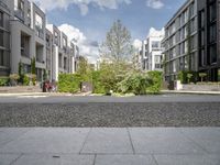
{"type": "Polygon", "coordinates": [[[142,68],[143,70],[162,70],[162,40],[164,30],[151,29],[148,36],[142,44],[142,68]]]}

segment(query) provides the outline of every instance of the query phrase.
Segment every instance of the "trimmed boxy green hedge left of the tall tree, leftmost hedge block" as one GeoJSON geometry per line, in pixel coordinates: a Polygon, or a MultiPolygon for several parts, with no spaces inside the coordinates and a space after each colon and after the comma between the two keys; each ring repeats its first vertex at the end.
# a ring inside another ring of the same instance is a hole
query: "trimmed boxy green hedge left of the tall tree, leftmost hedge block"
{"type": "Polygon", "coordinates": [[[82,79],[78,74],[59,74],[58,91],[59,92],[78,92],[82,79]]]}

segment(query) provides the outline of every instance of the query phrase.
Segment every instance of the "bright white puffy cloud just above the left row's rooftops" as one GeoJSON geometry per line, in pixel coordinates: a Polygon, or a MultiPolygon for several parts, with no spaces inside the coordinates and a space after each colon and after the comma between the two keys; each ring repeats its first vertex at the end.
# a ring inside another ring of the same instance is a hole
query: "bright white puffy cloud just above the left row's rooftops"
{"type": "Polygon", "coordinates": [[[96,63],[96,59],[99,56],[99,46],[97,42],[88,41],[86,35],[73,25],[62,24],[58,29],[68,36],[69,41],[73,38],[77,41],[80,55],[86,56],[90,63],[96,63]]]}

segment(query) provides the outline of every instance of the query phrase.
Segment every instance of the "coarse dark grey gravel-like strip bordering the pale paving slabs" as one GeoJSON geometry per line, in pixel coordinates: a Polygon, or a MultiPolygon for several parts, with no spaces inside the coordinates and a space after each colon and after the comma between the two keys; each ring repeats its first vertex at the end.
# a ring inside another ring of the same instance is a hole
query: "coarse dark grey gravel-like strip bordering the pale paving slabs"
{"type": "Polygon", "coordinates": [[[0,127],[220,127],[220,102],[0,103],[0,127]]]}

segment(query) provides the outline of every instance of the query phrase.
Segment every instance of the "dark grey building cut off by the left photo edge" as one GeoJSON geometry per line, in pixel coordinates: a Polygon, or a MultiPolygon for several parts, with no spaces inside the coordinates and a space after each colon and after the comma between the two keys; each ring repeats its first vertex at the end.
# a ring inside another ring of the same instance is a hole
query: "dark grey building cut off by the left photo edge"
{"type": "Polygon", "coordinates": [[[10,74],[10,20],[13,15],[13,1],[0,1],[0,76],[10,74]]]}

